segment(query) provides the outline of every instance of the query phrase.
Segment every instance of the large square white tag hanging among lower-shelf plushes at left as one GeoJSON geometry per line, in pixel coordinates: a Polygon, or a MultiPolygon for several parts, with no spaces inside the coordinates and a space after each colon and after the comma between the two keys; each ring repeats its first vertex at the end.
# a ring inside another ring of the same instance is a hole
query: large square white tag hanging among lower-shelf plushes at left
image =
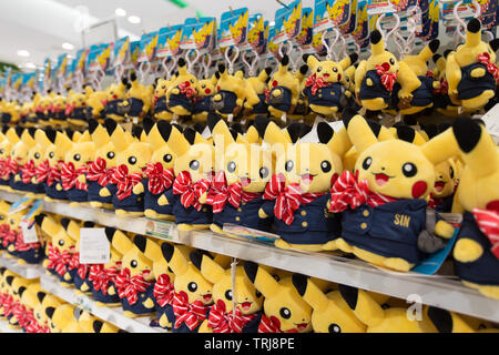
{"type": "Polygon", "coordinates": [[[110,253],[104,229],[80,229],[80,264],[106,264],[110,253]]]}

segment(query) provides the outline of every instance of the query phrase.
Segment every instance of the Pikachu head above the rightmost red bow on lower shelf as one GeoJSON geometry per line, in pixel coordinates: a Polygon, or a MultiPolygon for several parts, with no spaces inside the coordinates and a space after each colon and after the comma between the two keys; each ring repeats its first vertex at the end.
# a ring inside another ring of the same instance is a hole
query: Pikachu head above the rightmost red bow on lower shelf
{"type": "Polygon", "coordinates": [[[291,277],[277,282],[267,271],[253,262],[246,262],[244,270],[255,287],[265,296],[263,303],[265,315],[276,320],[282,332],[312,331],[312,308],[296,292],[291,277]]]}

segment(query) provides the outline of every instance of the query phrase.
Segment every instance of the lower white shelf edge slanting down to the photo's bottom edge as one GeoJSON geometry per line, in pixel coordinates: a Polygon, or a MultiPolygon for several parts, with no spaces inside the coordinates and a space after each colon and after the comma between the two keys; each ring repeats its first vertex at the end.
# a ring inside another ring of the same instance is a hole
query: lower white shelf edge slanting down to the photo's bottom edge
{"type": "Polygon", "coordinates": [[[74,288],[61,286],[59,281],[52,275],[42,274],[40,276],[40,284],[43,290],[129,333],[167,333],[164,329],[151,327],[149,325],[151,322],[150,317],[130,318],[123,314],[121,307],[99,307],[91,297],[77,294],[74,288]]]}

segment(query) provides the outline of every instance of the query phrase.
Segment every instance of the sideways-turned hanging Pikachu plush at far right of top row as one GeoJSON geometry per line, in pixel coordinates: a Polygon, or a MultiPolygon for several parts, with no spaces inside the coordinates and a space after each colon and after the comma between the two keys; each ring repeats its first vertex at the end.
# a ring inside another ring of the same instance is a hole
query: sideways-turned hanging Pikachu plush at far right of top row
{"type": "Polygon", "coordinates": [[[447,57],[446,78],[452,102],[467,111],[482,109],[496,95],[499,70],[496,64],[497,42],[492,49],[481,40],[481,23],[471,19],[465,44],[447,57]]]}

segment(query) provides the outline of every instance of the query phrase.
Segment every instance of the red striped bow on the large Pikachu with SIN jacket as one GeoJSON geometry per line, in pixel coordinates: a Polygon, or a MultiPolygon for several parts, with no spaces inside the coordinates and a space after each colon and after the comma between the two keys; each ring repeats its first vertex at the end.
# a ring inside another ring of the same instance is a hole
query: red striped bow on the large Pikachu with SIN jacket
{"type": "Polygon", "coordinates": [[[359,205],[367,203],[371,207],[397,201],[380,193],[371,192],[367,180],[358,182],[358,171],[355,175],[349,171],[344,171],[336,180],[330,190],[330,212],[339,213],[348,207],[357,209],[359,205]]]}

